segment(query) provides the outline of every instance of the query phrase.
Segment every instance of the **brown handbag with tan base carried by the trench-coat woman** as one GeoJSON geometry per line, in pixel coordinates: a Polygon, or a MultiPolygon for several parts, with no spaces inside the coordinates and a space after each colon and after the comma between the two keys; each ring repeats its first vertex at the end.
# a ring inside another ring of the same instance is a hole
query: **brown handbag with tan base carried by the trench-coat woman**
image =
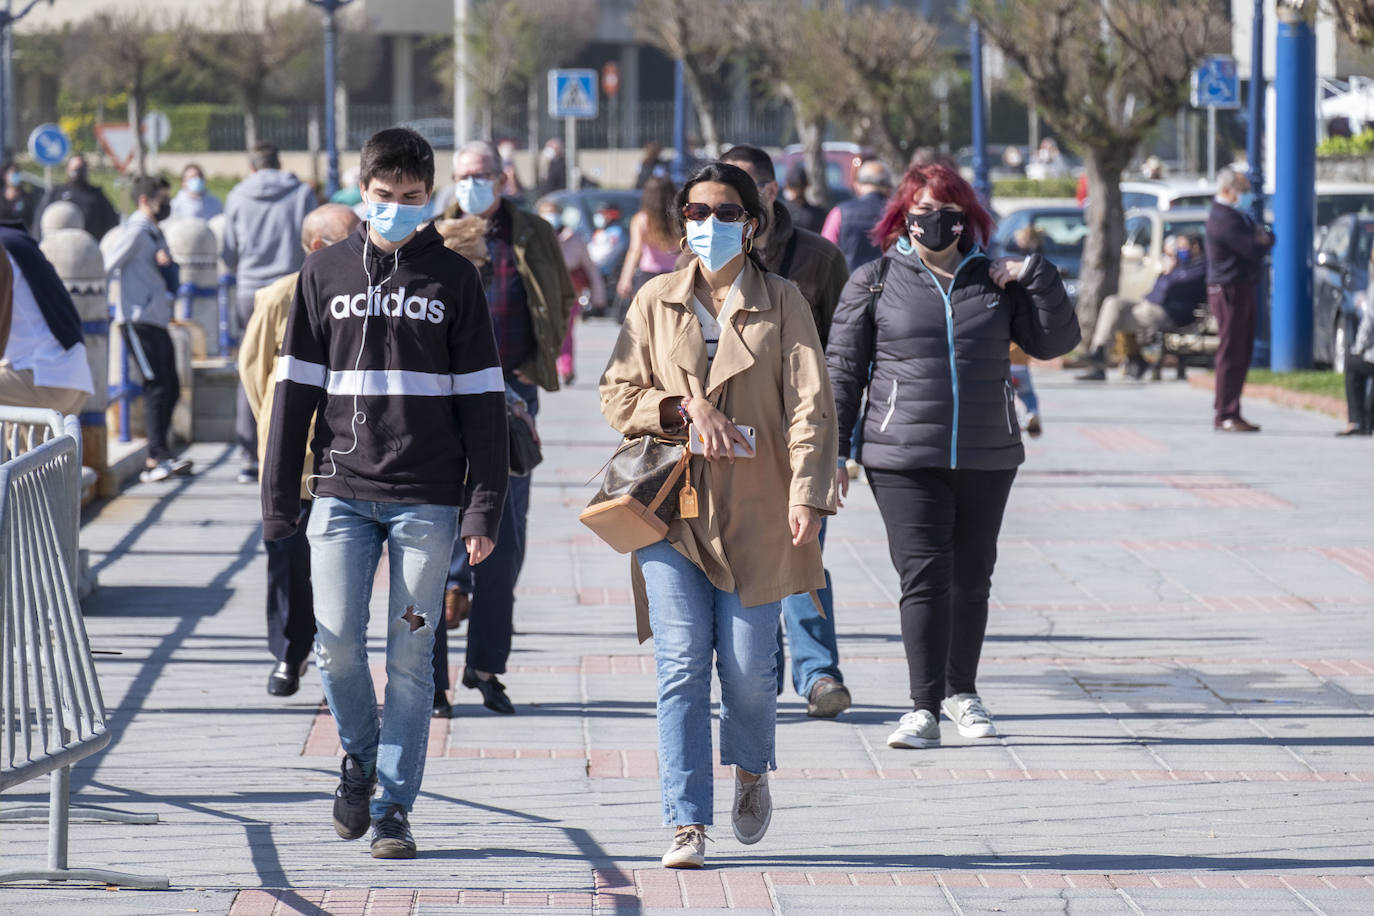
{"type": "Polygon", "coordinates": [[[679,512],[697,515],[687,441],[636,435],[606,463],[600,490],[578,520],[620,553],[657,544],[679,512]]]}

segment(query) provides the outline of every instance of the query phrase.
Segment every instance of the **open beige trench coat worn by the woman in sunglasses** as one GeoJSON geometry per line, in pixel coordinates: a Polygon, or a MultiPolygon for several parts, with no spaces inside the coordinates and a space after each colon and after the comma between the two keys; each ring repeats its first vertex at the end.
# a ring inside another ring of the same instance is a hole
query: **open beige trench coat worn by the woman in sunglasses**
{"type": "MultiPolygon", "coordinates": [[[[675,519],[668,541],[745,607],[824,588],[820,545],[793,547],[787,509],[835,511],[835,405],[826,358],[797,287],[746,262],[735,317],[721,324],[708,371],[692,312],[698,262],[664,273],[635,297],[600,380],[602,412],[622,435],[669,434],[658,408],[671,397],[713,397],[757,431],[749,459],[691,461],[699,515],[675,519]],[[739,331],[736,331],[739,328],[739,331]],[[727,385],[728,383],[728,385],[727,385]]],[[[640,641],[651,636],[639,564],[631,562],[640,641]]]]}

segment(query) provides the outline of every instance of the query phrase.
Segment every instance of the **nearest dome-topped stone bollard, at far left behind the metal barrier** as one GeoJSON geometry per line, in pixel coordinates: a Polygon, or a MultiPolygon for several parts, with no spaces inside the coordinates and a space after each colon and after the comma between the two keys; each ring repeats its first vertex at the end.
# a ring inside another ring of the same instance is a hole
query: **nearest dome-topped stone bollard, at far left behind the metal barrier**
{"type": "Polygon", "coordinates": [[[100,246],[85,229],[51,228],[43,233],[40,247],[62,277],[81,316],[81,335],[85,339],[91,382],[95,387],[95,393],[87,398],[81,409],[81,457],[99,477],[103,493],[109,485],[106,478],[110,470],[106,430],[106,407],[110,402],[106,387],[106,379],[110,376],[110,306],[104,298],[104,258],[100,255],[100,246]]]}

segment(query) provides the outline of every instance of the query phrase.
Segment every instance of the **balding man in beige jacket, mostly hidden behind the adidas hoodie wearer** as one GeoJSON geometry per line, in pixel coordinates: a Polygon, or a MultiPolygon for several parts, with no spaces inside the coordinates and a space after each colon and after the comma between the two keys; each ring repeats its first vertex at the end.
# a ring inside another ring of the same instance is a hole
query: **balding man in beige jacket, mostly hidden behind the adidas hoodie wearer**
{"type": "MultiPolygon", "coordinates": [[[[305,217],[301,249],[311,254],[342,242],[357,229],[357,214],[342,203],[326,203],[305,217]]],[[[295,298],[300,271],[257,291],[253,314],[239,345],[239,380],[258,427],[258,463],[265,460],[267,435],[272,424],[278,357],[286,338],[286,317],[295,298]]],[[[313,467],[306,461],[306,474],[313,467]]],[[[308,478],[306,478],[308,479],[308,478]]],[[[301,674],[315,643],[315,593],[311,588],[311,544],[305,527],[311,520],[311,492],[301,482],[301,515],[295,533],[264,541],[267,551],[267,644],[276,659],[267,680],[272,696],[291,696],[301,687],[301,674]]]]}

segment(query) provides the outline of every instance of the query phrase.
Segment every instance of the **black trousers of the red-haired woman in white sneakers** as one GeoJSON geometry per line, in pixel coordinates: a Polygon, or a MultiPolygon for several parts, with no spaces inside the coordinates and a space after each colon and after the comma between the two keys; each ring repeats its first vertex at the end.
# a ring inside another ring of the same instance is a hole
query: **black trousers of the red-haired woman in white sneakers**
{"type": "Polygon", "coordinates": [[[901,578],[901,641],[914,709],[977,694],[998,533],[1015,468],[868,468],[901,578]]]}

